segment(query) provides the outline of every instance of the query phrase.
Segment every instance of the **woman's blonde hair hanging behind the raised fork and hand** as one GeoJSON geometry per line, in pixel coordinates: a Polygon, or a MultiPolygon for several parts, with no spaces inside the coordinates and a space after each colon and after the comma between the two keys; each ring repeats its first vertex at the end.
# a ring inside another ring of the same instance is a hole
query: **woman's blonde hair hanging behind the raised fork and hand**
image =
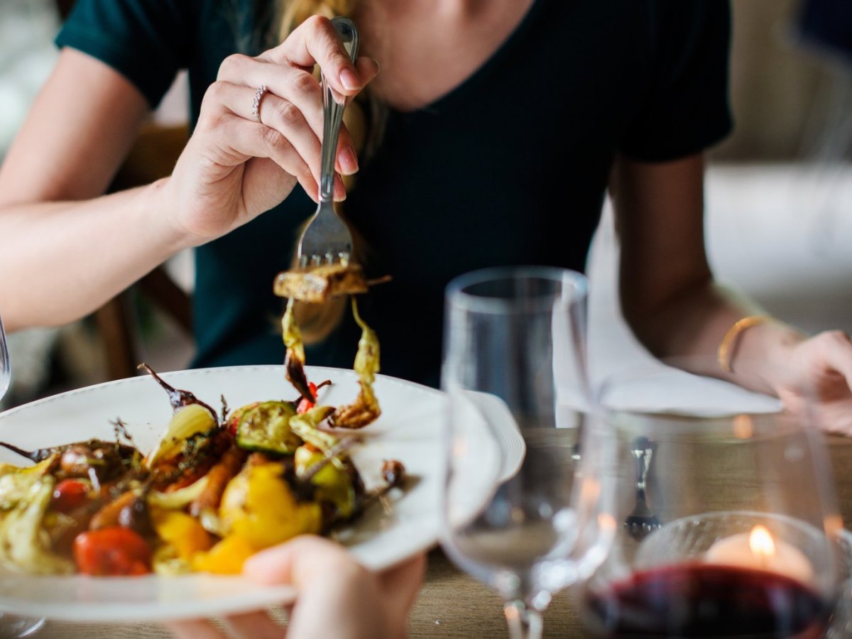
{"type": "MultiPolygon", "coordinates": [[[[284,42],[297,26],[313,15],[324,15],[330,19],[336,15],[351,15],[358,3],[359,0],[280,0],[279,20],[277,20],[279,42],[284,42]]],[[[385,113],[386,108],[371,94],[369,87],[361,91],[343,112],[343,123],[346,124],[352,136],[359,157],[369,157],[378,146],[383,133],[385,113]],[[369,123],[366,112],[371,114],[369,123]]],[[[343,176],[343,184],[349,190],[354,185],[354,176],[343,176]]],[[[336,203],[335,208],[337,213],[347,220],[341,203],[336,203]]],[[[347,220],[347,223],[353,235],[354,261],[364,264],[366,243],[351,222],[347,220]]],[[[301,234],[300,232],[299,236],[301,234]]],[[[297,266],[296,251],[294,251],[292,266],[293,268],[297,266]]],[[[340,325],[346,310],[346,298],[331,298],[323,304],[296,303],[293,310],[296,322],[302,329],[303,342],[319,343],[340,325]]]]}

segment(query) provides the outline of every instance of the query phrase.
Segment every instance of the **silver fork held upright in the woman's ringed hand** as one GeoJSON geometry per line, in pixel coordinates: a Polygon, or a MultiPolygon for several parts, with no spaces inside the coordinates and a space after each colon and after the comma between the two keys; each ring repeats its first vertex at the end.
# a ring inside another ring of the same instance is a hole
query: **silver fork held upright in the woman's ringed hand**
{"type": "MultiPolygon", "coordinates": [[[[343,40],[343,46],[353,62],[358,57],[358,30],[354,22],[338,16],[331,24],[343,40]]],[[[337,137],[343,120],[346,98],[338,102],[331,87],[321,77],[323,92],[323,134],[320,171],[320,204],[308,226],[302,232],[298,246],[298,263],[301,268],[340,262],[347,264],[352,254],[352,235],[334,210],[334,158],[337,154],[337,137]]]]}

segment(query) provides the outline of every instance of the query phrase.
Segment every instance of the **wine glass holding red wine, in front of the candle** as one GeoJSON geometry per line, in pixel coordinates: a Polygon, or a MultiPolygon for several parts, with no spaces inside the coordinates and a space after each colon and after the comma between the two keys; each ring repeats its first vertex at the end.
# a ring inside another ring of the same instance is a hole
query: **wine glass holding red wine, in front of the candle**
{"type": "Polygon", "coordinates": [[[665,366],[597,397],[619,450],[619,534],[579,589],[590,634],[825,636],[843,523],[807,412],[665,366]]]}

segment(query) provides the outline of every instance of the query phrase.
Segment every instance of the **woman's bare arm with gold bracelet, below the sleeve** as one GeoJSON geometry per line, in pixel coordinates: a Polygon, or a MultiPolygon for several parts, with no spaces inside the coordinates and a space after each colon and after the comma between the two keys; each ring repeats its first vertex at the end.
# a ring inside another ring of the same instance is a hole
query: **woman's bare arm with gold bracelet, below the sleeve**
{"type": "Polygon", "coordinates": [[[698,155],[657,164],[616,162],[611,188],[625,320],[659,358],[779,394],[779,373],[791,366],[791,350],[805,336],[778,320],[746,323],[729,333],[739,320],[763,311],[713,281],[705,256],[703,174],[698,155]],[[719,362],[726,335],[731,371],[719,362]]]}

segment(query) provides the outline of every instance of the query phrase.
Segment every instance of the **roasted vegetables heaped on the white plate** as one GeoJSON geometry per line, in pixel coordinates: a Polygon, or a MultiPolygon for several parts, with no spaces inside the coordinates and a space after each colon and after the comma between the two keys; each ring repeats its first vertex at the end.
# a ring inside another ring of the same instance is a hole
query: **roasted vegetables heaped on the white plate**
{"type": "MultiPolygon", "coordinates": [[[[35,465],[0,464],[0,567],[239,573],[256,551],[301,533],[331,533],[402,481],[399,462],[388,462],[381,485],[366,490],[348,454],[360,439],[325,428],[333,406],[299,397],[229,412],[222,398],[219,415],[141,368],[174,411],[147,455],[120,421],[115,441],[35,451],[3,444],[35,465]]],[[[312,388],[316,400],[320,387],[312,388]]]]}

